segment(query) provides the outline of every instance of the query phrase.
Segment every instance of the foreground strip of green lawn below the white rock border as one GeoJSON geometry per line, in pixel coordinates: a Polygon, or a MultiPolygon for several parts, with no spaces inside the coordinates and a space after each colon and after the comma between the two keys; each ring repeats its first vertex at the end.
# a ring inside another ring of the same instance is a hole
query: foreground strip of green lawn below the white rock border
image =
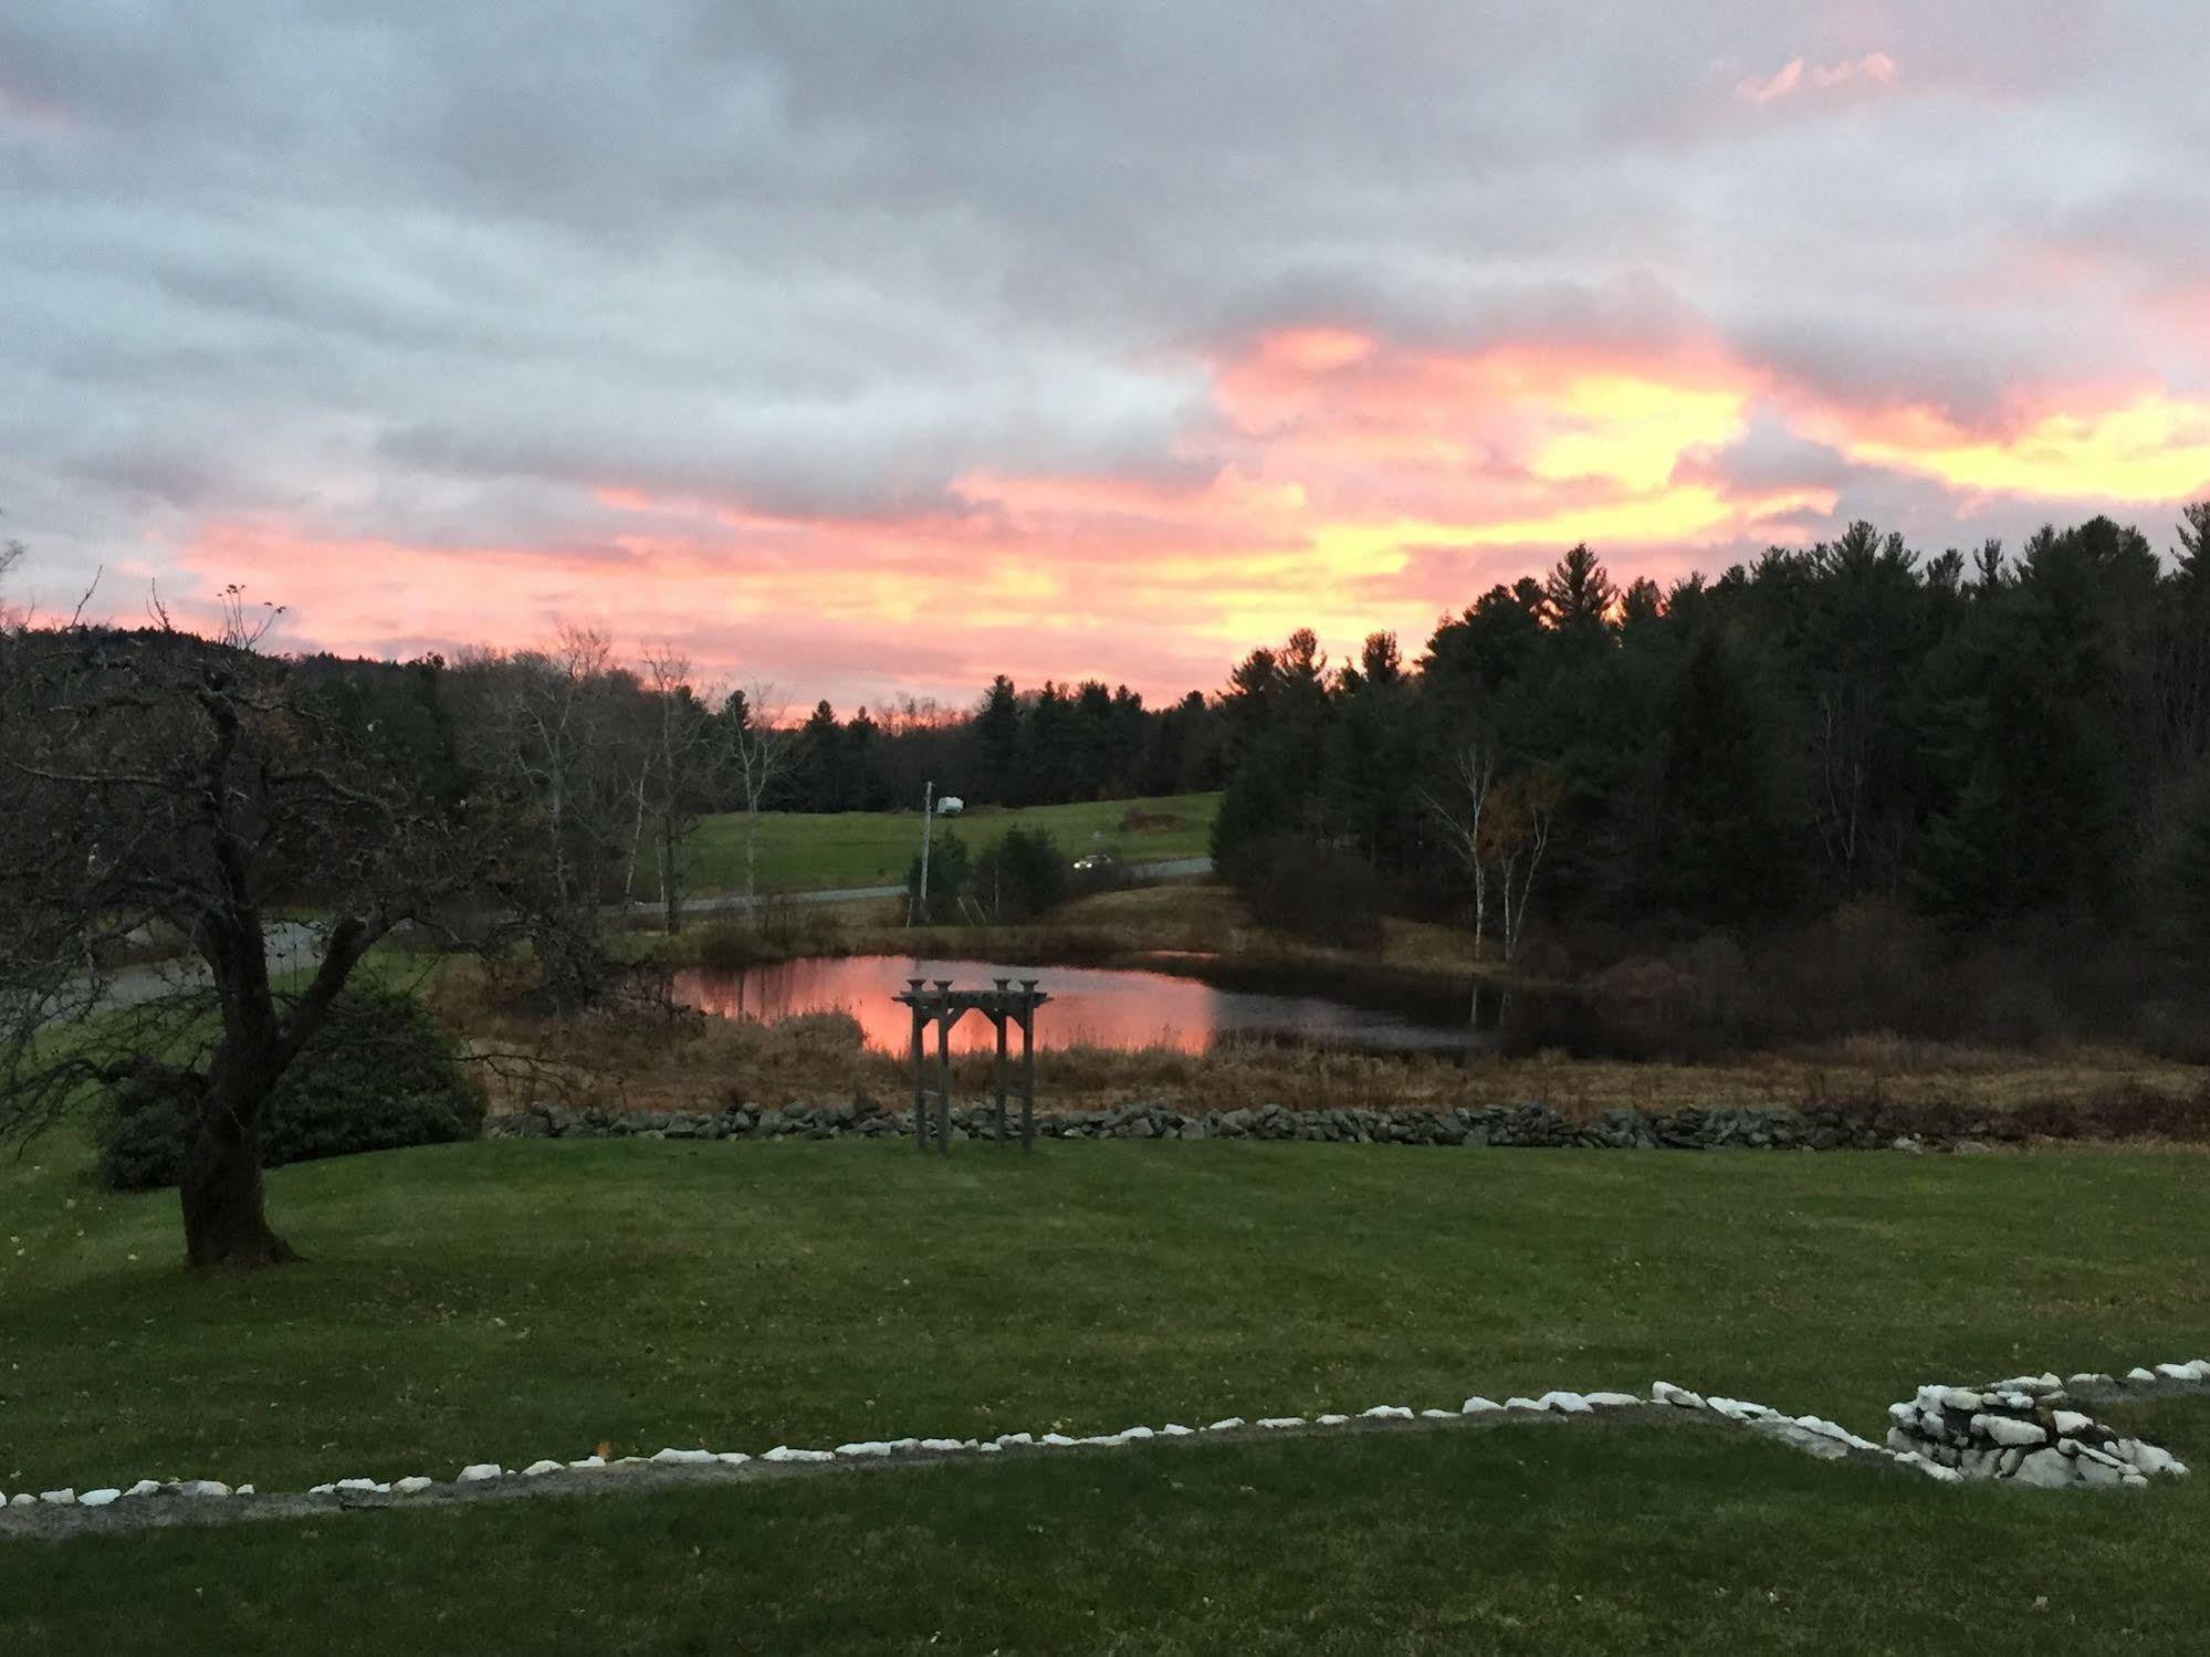
{"type": "Polygon", "coordinates": [[[0,1544],[0,1642],[2150,1657],[2203,1650],[2206,1487],[1956,1491],[1622,1425],[1151,1447],[0,1544]]]}

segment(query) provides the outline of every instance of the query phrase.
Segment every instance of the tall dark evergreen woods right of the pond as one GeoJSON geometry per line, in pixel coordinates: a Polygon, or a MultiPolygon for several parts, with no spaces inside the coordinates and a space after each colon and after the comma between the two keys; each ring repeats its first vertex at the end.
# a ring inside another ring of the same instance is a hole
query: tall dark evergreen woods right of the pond
{"type": "Polygon", "coordinates": [[[1580,546],[1414,663],[1299,632],[1220,703],[1216,855],[1257,890],[1317,846],[1503,954],[1529,915],[1622,950],[1883,904],[2210,965],[2206,548],[2210,504],[2170,563],[2106,517],[1969,559],[1854,524],[1671,588],[1580,546]]]}

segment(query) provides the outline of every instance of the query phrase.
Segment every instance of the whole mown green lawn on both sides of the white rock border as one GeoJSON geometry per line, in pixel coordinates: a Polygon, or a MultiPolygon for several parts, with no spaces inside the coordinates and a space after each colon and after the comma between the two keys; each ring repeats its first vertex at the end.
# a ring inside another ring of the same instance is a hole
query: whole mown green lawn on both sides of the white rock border
{"type": "MultiPolygon", "coordinates": [[[[2210,1352],[2201,1160],[484,1142],[283,1169],[309,1264],[0,1164],[0,1485],[1043,1432],[1653,1379],[1859,1429],[2210,1352]]],[[[2157,1412],[2210,1463],[2210,1416],[2157,1412]]],[[[1160,1447],[0,1547],[0,1648],[2195,1650],[2210,1478],[1934,1489],[1649,1427],[1160,1447]],[[1074,1471],[1070,1471],[1074,1469],[1074,1471]],[[1768,1597],[1770,1595],[1770,1597],[1768,1597]],[[2046,1600],[2035,1606],[2035,1595],[2046,1600]],[[232,1624],[232,1619],[236,1619],[232,1624]],[[2130,1628],[2122,1642],[2119,1628],[2130,1628]],[[15,1635],[11,1639],[11,1635],[15,1635]]]]}

